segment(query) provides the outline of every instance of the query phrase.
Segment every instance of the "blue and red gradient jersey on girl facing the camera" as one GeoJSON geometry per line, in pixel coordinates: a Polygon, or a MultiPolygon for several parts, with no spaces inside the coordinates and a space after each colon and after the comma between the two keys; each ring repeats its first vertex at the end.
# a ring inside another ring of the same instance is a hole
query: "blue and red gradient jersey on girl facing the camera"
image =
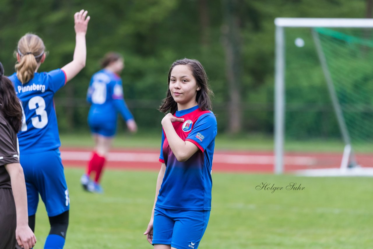
{"type": "Polygon", "coordinates": [[[199,150],[187,161],[179,162],[162,134],[160,162],[166,165],[156,207],[178,210],[211,210],[211,166],[214,155],[217,123],[211,111],[198,106],[177,111],[184,122],[173,122],[176,133],[184,141],[194,143],[199,150]]]}

